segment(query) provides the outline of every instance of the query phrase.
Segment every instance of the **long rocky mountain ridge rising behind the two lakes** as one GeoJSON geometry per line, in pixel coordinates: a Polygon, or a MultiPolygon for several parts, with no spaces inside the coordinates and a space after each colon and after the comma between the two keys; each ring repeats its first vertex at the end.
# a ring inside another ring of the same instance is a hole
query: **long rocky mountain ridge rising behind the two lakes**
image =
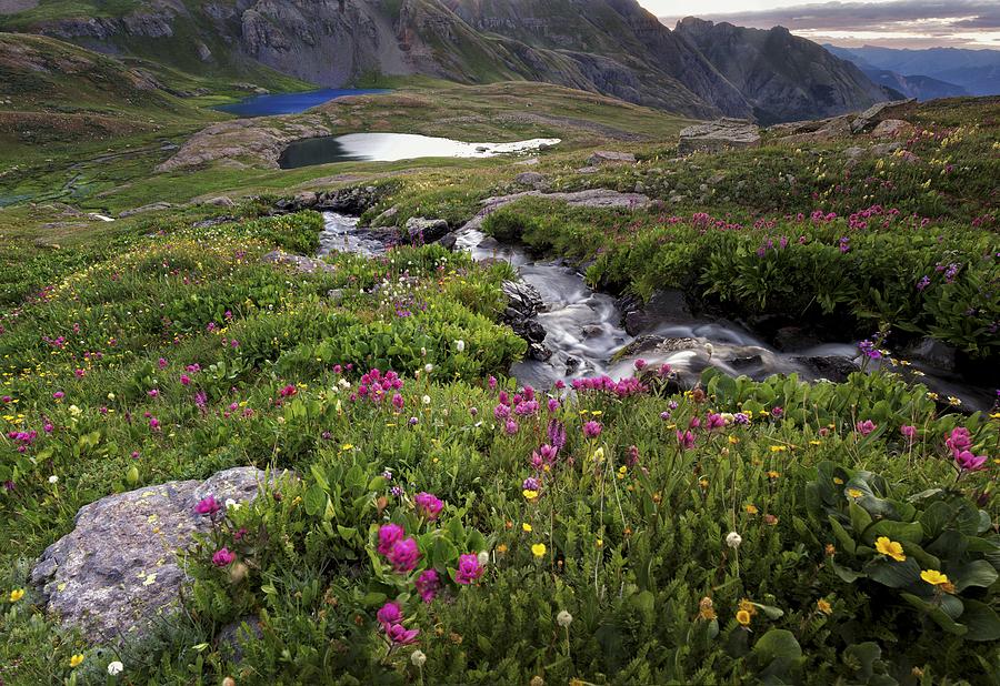
{"type": "Polygon", "coordinates": [[[784,29],[692,19],[671,31],[636,0],[39,0],[16,2],[14,11],[2,7],[0,30],[230,79],[263,64],[328,87],[410,74],[462,83],[531,80],[689,117],[763,123],[862,110],[893,94],[784,29]]]}

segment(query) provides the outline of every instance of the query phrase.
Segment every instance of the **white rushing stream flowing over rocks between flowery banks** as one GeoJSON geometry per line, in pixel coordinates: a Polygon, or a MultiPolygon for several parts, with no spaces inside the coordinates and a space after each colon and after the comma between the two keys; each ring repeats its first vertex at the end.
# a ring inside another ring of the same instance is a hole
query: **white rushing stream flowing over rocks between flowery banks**
{"type": "MultiPolygon", "coordinates": [[[[367,255],[386,251],[386,243],[377,234],[360,229],[357,218],[327,212],[324,219],[320,256],[334,250],[367,255]]],[[[843,369],[847,362],[858,362],[859,352],[853,342],[780,352],[739,324],[718,319],[662,319],[649,322],[633,336],[621,324],[622,312],[616,300],[591,290],[583,275],[563,261],[536,260],[521,248],[498,243],[478,229],[463,228],[457,235],[456,250],[466,250],[476,260],[509,262],[541,295],[544,304],[538,321],[547,332],[544,344],[552,355],[546,361],[516,363],[510,371],[521,384],[549,389],[560,380],[602,374],[618,380],[631,376],[640,359],[651,366],[669,364],[686,380],[697,379],[706,367],[713,366],[733,376],[746,374],[758,381],[772,374],[792,373],[806,381],[818,381],[822,379],[819,370],[824,365],[843,369]],[[621,354],[626,346],[637,351],[621,354]]],[[[921,382],[942,397],[959,397],[968,410],[990,407],[992,399],[988,390],[951,380],[930,367],[916,363],[913,366],[927,374],[921,382]]]]}

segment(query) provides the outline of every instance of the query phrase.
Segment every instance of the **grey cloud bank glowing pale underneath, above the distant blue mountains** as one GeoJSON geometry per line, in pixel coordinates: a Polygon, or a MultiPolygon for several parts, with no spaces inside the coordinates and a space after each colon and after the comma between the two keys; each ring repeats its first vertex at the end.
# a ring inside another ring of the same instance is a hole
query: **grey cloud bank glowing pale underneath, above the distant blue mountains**
{"type": "Polygon", "coordinates": [[[702,18],[759,29],[782,26],[813,40],[839,43],[1000,47],[997,0],[836,1],[702,18]]]}

